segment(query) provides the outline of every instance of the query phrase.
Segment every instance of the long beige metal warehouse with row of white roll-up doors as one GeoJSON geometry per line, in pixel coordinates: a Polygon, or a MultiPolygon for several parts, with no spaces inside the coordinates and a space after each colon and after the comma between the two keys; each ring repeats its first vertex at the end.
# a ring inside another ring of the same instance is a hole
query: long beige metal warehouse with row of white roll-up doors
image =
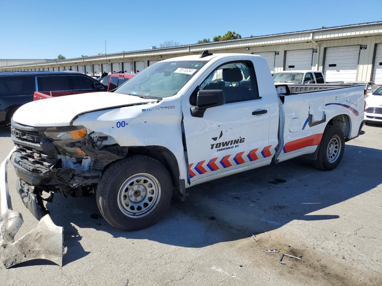
{"type": "Polygon", "coordinates": [[[223,42],[89,56],[86,58],[16,64],[0,71],[63,71],[88,75],[102,72],[137,73],[162,59],[212,53],[250,53],[263,56],[271,72],[323,71],[327,81],[374,81],[382,85],[382,21],[263,35],[223,42]]]}

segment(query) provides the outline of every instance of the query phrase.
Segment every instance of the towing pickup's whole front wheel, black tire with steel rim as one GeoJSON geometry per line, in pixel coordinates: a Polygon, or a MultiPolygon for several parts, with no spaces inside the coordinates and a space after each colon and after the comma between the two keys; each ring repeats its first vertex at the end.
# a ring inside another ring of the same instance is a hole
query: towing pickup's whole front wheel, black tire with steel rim
{"type": "Polygon", "coordinates": [[[111,164],[96,190],[102,216],[123,231],[153,225],[167,211],[171,197],[172,181],[167,169],[159,161],[141,155],[111,164]]]}

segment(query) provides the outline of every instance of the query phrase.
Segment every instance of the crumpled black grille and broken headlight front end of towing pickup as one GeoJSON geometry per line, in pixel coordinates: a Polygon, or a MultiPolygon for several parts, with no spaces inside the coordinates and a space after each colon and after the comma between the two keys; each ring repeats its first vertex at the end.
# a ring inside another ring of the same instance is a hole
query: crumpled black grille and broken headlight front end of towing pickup
{"type": "Polygon", "coordinates": [[[12,122],[12,161],[24,205],[41,219],[54,193],[81,196],[94,191],[105,166],[126,155],[112,137],[83,126],[30,127],[12,122]],[[50,193],[48,198],[42,194],[50,193]]]}

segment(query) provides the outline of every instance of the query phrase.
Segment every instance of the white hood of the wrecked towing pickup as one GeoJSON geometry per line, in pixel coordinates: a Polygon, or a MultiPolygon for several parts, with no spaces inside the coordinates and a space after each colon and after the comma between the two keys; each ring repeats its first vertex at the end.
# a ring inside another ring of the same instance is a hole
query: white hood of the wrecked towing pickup
{"type": "Polygon", "coordinates": [[[79,114],[153,101],[112,92],[66,95],[24,104],[13,115],[13,121],[35,127],[68,126],[79,114]]]}

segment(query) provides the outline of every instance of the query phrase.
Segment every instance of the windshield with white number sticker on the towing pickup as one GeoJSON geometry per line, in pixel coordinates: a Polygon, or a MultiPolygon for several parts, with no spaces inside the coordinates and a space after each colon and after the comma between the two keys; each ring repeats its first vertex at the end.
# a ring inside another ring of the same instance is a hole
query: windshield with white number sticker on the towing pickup
{"type": "Polygon", "coordinates": [[[164,61],[153,64],[115,90],[117,93],[154,96],[175,95],[206,61],[164,61]]]}

